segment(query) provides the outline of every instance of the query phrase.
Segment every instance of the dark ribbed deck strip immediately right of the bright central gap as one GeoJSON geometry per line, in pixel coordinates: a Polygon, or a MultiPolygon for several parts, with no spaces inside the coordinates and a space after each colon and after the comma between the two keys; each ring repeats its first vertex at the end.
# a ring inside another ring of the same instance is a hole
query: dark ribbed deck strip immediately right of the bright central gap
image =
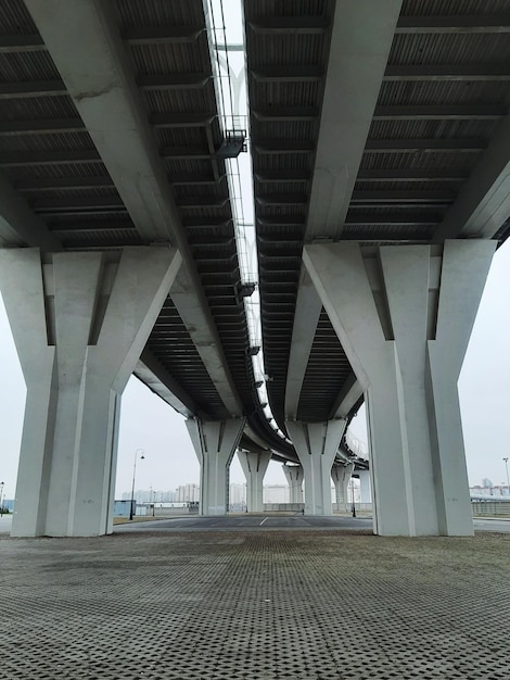
{"type": "Polygon", "coordinates": [[[269,402],[280,427],[329,34],[282,35],[254,25],[272,17],[284,23],[303,16],[324,20],[327,25],[333,10],[331,2],[244,4],[264,356],[271,378],[269,402]],[[316,76],[310,78],[313,72],[316,76]],[[307,119],[299,110],[306,115],[310,110],[311,116],[307,119]],[[271,149],[281,148],[285,140],[297,148],[288,144],[283,153],[271,149]],[[301,172],[302,179],[293,180],[293,172],[301,172]]]}

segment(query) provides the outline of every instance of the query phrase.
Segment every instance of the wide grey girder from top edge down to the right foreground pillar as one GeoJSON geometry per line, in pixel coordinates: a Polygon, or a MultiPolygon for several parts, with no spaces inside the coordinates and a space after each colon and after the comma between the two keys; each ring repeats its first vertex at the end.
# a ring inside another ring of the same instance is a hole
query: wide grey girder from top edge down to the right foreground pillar
{"type": "Polygon", "coordinates": [[[336,3],[308,209],[308,242],[337,238],[343,229],[401,4],[403,0],[336,3]]]}

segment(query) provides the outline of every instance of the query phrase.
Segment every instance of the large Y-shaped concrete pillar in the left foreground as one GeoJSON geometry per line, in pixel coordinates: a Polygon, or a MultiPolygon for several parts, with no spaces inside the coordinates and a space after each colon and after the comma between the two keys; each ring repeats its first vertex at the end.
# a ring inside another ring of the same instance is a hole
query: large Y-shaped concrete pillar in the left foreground
{"type": "Polygon", "coordinates": [[[13,536],[112,531],[119,395],[180,262],[168,248],[0,251],[27,386],[13,536]]]}

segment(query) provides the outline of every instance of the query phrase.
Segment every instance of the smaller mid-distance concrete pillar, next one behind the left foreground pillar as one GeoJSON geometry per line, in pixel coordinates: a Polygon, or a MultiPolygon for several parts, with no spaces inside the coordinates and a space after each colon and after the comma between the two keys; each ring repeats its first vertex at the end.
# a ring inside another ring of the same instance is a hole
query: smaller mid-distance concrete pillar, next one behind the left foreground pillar
{"type": "Polygon", "coordinates": [[[244,421],[244,418],[188,418],[186,421],[200,462],[201,515],[226,515],[228,512],[229,468],[244,421]]]}

